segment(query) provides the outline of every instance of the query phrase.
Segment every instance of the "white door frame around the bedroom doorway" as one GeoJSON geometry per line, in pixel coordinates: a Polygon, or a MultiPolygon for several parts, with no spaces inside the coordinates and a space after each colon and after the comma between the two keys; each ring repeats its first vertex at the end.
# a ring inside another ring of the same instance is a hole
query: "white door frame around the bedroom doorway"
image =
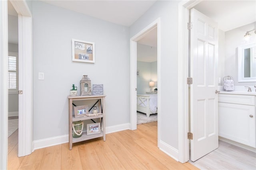
{"type": "MultiPolygon", "coordinates": [[[[150,23],[147,27],[142,29],[136,35],[134,35],[130,39],[130,129],[136,130],[137,129],[137,109],[136,109],[136,96],[137,96],[137,76],[136,76],[136,68],[137,68],[137,41],[144,37],[146,33],[151,31],[157,27],[157,84],[158,84],[158,106],[160,104],[161,99],[161,74],[160,74],[160,60],[161,60],[161,37],[160,37],[160,18],[156,19],[152,23],[150,23]]],[[[158,143],[159,143],[159,133],[160,131],[160,114],[161,107],[158,107],[158,143]]]]}

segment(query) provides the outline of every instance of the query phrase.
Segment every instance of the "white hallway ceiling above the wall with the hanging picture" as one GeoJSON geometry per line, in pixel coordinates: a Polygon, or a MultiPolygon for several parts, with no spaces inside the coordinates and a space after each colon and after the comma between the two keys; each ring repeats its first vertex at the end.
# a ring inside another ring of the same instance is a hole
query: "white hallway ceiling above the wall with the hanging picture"
{"type": "Polygon", "coordinates": [[[130,26],[138,20],[156,0],[42,0],[101,20],[130,26]]]}

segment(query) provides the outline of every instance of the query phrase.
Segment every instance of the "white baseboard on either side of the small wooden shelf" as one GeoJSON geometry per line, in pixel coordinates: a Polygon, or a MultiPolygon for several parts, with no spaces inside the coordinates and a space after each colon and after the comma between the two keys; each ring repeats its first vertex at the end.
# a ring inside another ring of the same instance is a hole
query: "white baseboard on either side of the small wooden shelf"
{"type": "MultiPolygon", "coordinates": [[[[129,127],[130,127],[130,123],[106,127],[106,134],[123,131],[123,130],[129,129],[129,127]]],[[[36,141],[33,141],[33,145],[34,145],[33,152],[36,149],[51,147],[54,145],[60,145],[62,143],[68,143],[68,135],[36,140],[36,141]]]]}

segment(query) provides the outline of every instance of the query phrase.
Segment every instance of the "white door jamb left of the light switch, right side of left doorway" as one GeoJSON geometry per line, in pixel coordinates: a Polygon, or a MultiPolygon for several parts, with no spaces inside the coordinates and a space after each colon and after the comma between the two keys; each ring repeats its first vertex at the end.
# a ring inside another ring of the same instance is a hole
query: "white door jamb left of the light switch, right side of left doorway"
{"type": "Polygon", "coordinates": [[[19,137],[18,156],[32,153],[32,13],[25,0],[10,0],[18,13],[19,137]]]}

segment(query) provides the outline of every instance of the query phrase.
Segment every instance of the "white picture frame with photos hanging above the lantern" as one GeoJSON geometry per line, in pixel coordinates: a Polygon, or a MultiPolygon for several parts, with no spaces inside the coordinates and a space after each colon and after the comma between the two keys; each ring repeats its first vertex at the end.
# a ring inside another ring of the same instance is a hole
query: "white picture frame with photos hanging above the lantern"
{"type": "Polygon", "coordinates": [[[95,63],[94,43],[72,39],[72,61],[95,63]]]}

